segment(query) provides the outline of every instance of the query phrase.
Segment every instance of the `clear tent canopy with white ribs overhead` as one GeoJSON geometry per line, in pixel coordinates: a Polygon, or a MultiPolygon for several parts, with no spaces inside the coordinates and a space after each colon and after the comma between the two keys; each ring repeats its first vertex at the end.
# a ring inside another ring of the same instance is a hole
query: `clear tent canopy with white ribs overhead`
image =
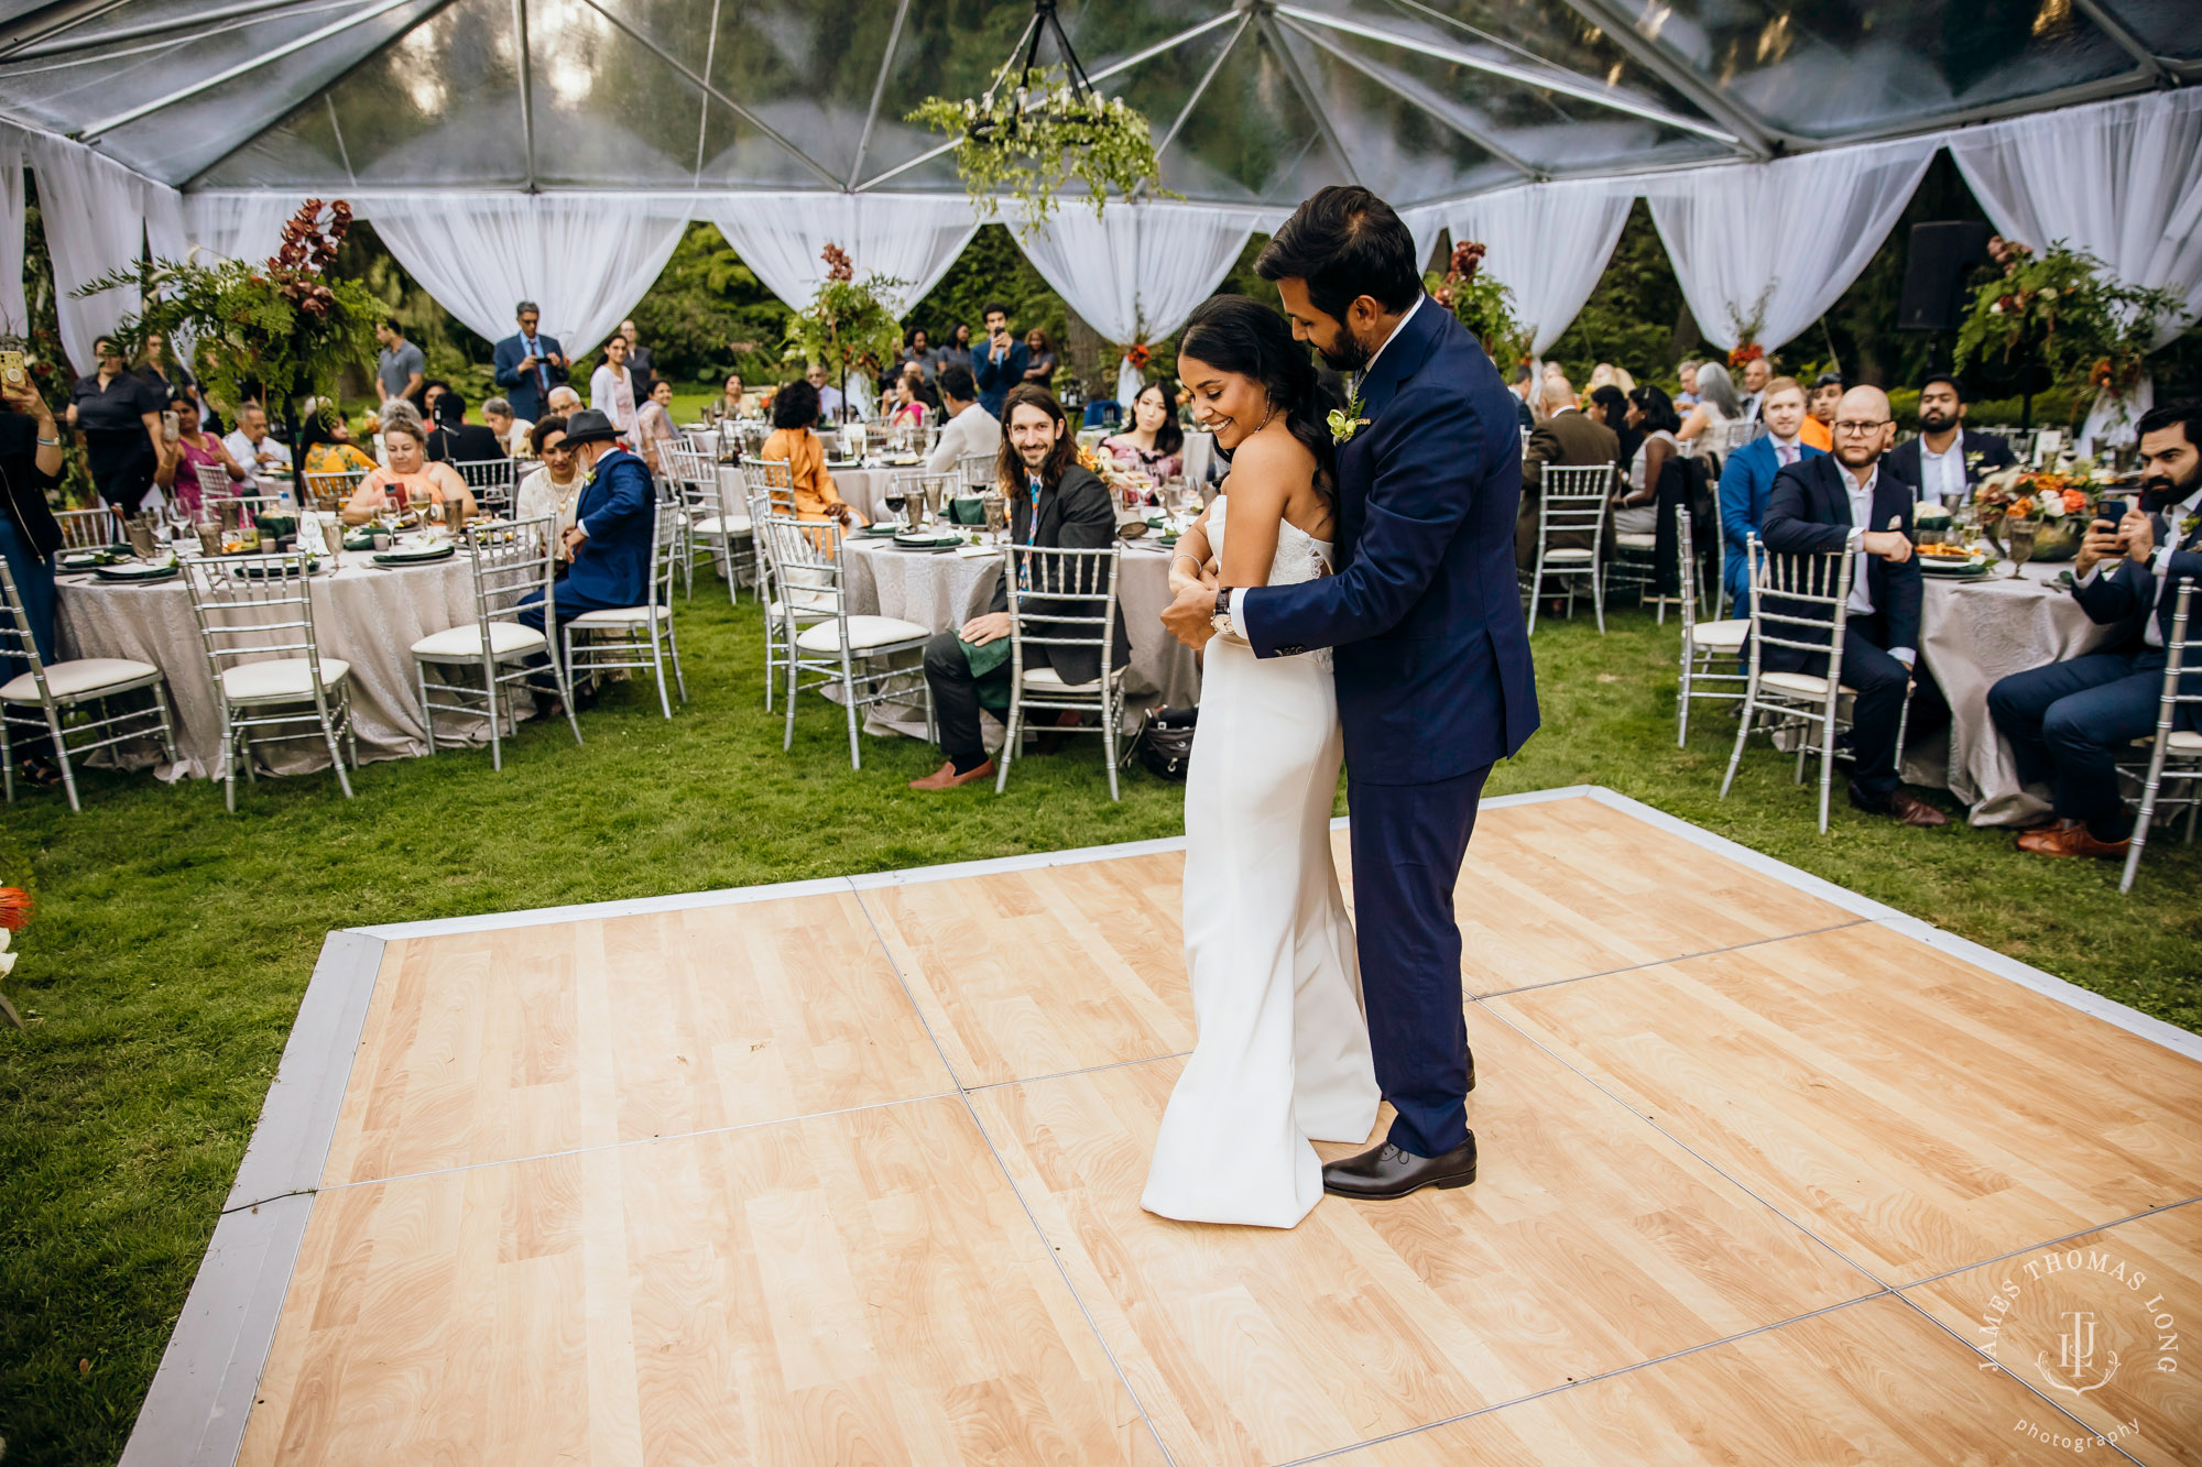
{"type": "MultiPolygon", "coordinates": [[[[1026,0],[0,0],[0,115],[185,192],[951,194],[1026,0]]],[[[2193,0],[1066,0],[1187,200],[1409,207],[2202,75],[2193,0]]]]}

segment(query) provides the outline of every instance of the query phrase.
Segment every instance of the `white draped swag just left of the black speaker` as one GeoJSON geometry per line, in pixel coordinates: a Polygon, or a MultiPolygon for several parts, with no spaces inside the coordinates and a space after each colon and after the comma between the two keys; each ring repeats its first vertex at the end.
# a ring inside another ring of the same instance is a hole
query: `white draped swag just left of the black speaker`
{"type": "Polygon", "coordinates": [[[1850,289],[1911,203],[1938,137],[1830,148],[1643,181],[1698,330],[1720,348],[1775,350],[1850,289]]]}

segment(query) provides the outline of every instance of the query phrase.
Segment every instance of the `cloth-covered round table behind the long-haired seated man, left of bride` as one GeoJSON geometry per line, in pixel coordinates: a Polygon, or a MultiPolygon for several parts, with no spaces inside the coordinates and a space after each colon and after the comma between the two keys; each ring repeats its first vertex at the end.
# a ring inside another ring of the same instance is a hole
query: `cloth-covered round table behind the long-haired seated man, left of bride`
{"type": "MultiPolygon", "coordinates": [[[[868,535],[841,544],[850,612],[901,617],[936,632],[962,626],[980,577],[1002,564],[998,546],[947,553],[896,551],[892,540],[868,535]]],[[[1169,555],[1160,544],[1127,540],[1121,575],[1116,615],[1123,617],[1132,639],[1132,667],[1125,672],[1127,709],[1156,700],[1171,707],[1200,703],[1200,667],[1191,648],[1163,630],[1163,608],[1169,606],[1169,555]]],[[[925,736],[925,716],[918,709],[881,705],[872,722],[925,736]]]]}

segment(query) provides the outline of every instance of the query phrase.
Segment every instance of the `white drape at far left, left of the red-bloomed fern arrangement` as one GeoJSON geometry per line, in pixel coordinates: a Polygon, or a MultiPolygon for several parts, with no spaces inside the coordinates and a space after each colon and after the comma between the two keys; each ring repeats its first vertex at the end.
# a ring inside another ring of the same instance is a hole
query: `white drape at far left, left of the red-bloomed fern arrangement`
{"type": "MultiPolygon", "coordinates": [[[[24,139],[31,167],[37,170],[40,220],[46,225],[46,249],[53,253],[55,315],[62,322],[62,350],[79,372],[92,370],[92,341],[115,330],[139,308],[137,286],[75,297],[73,291],[112,269],[134,267],[145,249],[145,220],[159,216],[163,233],[176,220],[176,242],[183,236],[183,214],[176,189],[132,174],[121,163],[103,159],[81,143],[31,132],[24,139]],[[170,216],[170,209],[176,209],[170,216]]],[[[178,249],[181,253],[181,249],[178,249]]]]}

